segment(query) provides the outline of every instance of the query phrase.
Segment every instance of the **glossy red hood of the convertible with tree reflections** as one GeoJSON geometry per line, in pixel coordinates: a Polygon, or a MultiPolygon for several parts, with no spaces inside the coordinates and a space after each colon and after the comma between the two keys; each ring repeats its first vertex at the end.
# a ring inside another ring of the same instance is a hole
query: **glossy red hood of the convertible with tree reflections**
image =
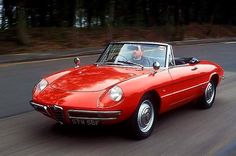
{"type": "Polygon", "coordinates": [[[99,91],[148,72],[130,67],[84,66],[61,76],[51,87],[64,91],[99,91]]]}

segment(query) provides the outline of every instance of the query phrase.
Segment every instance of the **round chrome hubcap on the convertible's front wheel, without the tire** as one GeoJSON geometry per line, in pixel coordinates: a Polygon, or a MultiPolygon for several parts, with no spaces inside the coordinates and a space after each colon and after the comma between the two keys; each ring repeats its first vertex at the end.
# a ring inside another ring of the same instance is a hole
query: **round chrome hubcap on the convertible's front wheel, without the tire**
{"type": "Polygon", "coordinates": [[[138,111],[138,126],[142,132],[147,132],[151,129],[154,121],[154,109],[149,100],[143,101],[138,111]]]}

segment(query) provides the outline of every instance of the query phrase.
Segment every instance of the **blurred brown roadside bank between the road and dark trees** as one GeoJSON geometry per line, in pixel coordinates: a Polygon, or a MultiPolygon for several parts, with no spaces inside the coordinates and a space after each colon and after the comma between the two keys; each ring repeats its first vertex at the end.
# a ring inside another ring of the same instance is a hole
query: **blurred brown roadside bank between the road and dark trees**
{"type": "Polygon", "coordinates": [[[115,28],[30,28],[30,45],[17,43],[15,31],[0,31],[0,54],[39,51],[63,51],[86,47],[101,47],[110,41],[173,41],[235,37],[236,26],[195,24],[174,27],[115,27],[115,28]]]}

